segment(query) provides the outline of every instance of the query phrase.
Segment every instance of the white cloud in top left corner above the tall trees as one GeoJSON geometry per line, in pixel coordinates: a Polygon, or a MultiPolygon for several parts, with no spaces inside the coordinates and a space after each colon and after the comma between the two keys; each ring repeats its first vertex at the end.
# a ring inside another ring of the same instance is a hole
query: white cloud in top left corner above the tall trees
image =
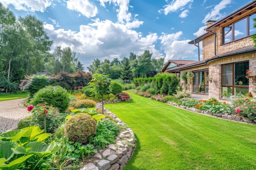
{"type": "Polygon", "coordinates": [[[4,6],[13,5],[18,11],[44,12],[52,4],[52,0],[1,0],[4,6]]]}

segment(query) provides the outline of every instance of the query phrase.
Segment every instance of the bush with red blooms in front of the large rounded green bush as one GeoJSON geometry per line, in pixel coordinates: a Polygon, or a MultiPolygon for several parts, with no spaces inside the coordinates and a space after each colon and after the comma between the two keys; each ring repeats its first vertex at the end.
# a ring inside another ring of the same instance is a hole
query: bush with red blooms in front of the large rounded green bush
{"type": "Polygon", "coordinates": [[[28,111],[30,110],[32,113],[31,123],[35,126],[39,126],[39,128],[43,130],[46,122],[47,133],[54,132],[66,117],[66,114],[59,114],[58,108],[54,108],[52,105],[46,106],[45,104],[39,104],[37,106],[27,106],[27,108],[28,111]]]}

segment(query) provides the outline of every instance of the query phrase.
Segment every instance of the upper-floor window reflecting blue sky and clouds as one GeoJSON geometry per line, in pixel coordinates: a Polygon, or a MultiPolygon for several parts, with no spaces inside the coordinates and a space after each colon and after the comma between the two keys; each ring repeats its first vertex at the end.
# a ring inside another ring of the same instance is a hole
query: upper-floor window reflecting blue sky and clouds
{"type": "Polygon", "coordinates": [[[254,18],[256,18],[256,13],[223,27],[222,43],[225,44],[255,34],[254,18]]]}

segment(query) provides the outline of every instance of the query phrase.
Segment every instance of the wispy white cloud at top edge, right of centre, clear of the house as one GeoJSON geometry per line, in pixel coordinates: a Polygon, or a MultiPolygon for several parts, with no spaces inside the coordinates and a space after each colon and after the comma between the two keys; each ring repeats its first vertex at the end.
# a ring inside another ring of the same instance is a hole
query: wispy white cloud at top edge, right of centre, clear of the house
{"type": "MultiPolygon", "coordinates": [[[[184,9],[184,6],[186,6],[189,3],[192,3],[193,0],[173,0],[171,4],[165,5],[164,9],[159,10],[158,12],[164,12],[165,15],[171,12],[178,11],[180,9],[184,9]]],[[[189,6],[190,7],[190,6],[189,6]]]]}

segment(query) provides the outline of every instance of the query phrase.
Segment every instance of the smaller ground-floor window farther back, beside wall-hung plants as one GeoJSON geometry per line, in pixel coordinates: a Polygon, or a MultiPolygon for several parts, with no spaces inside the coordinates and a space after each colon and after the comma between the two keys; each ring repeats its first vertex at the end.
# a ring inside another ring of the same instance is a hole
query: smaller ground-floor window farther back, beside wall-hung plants
{"type": "Polygon", "coordinates": [[[207,77],[209,71],[197,71],[194,72],[193,78],[193,92],[194,93],[209,93],[209,81],[207,77]]]}

